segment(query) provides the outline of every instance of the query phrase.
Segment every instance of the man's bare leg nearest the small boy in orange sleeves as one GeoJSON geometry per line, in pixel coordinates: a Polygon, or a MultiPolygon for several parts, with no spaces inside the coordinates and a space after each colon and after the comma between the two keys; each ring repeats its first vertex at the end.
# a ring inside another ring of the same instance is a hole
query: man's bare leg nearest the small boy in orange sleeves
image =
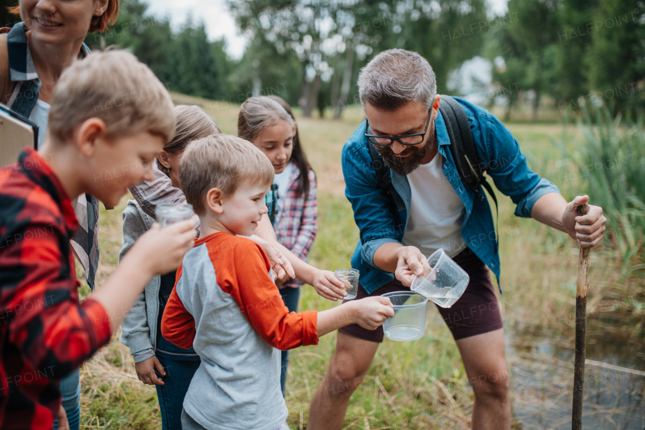
{"type": "Polygon", "coordinates": [[[352,393],[370,370],[379,343],[338,332],[329,369],[313,394],[308,430],[340,430],[352,393]]]}

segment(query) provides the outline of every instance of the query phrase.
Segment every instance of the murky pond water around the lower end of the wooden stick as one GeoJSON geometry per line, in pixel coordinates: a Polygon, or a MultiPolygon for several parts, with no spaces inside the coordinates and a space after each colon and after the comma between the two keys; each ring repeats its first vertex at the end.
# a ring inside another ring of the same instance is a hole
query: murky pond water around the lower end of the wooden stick
{"type": "MultiPolygon", "coordinates": [[[[583,429],[645,429],[642,329],[632,318],[588,321],[583,429]]],[[[514,428],[571,429],[573,330],[524,327],[507,333],[514,428]]]]}

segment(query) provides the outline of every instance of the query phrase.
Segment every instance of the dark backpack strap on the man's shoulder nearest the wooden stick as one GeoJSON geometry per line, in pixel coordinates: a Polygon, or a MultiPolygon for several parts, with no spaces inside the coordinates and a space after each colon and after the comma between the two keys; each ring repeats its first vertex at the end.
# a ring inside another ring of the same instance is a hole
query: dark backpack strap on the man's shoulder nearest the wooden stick
{"type": "MultiPolygon", "coordinates": [[[[477,151],[475,150],[475,139],[473,139],[473,132],[470,130],[470,121],[464,108],[461,107],[459,102],[450,96],[441,96],[442,103],[439,105],[439,110],[446,123],[448,129],[448,136],[450,137],[450,154],[455,161],[455,167],[459,173],[464,185],[468,185],[475,189],[475,194],[484,200],[484,194],[479,189],[479,185],[484,187],[488,194],[495,202],[495,211],[497,212],[497,225],[499,225],[499,205],[497,203],[497,196],[490,183],[486,181],[486,176],[482,172],[479,158],[477,158],[477,151]]],[[[498,229],[499,230],[499,229],[498,229]]],[[[499,249],[499,231],[495,239],[495,252],[499,249]]]]}

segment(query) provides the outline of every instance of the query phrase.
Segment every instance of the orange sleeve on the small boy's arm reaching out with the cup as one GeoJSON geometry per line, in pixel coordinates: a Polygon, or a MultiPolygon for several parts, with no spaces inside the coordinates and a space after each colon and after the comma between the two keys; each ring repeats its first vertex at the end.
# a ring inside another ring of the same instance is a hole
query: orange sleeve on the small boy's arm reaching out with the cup
{"type": "Polygon", "coordinates": [[[271,265],[261,247],[246,238],[230,241],[237,242],[232,252],[219,252],[219,261],[213,261],[217,283],[235,298],[253,329],[277,349],[317,345],[317,311],[290,313],[269,277],[271,265]]]}

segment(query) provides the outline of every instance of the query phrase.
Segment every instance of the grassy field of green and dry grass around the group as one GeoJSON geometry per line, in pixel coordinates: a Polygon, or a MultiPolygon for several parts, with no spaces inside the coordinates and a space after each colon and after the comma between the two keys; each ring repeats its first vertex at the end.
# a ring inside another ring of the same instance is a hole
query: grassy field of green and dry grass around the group
{"type": "MultiPolygon", "coordinates": [[[[203,105],[224,132],[235,132],[238,107],[183,96],[175,96],[175,101],[203,105]]],[[[362,112],[356,108],[346,112],[342,121],[306,118],[298,121],[319,189],[319,232],[310,262],[324,269],[348,267],[357,241],[358,229],[343,195],[340,159],[344,141],[361,121],[362,112]]],[[[553,143],[562,133],[561,126],[518,123],[509,127],[527,154],[530,166],[559,185],[566,198],[573,196],[575,190],[571,189],[567,174],[570,168],[553,143]]],[[[575,134],[575,128],[569,132],[575,134]]],[[[500,303],[507,345],[512,351],[508,358],[512,370],[540,354],[539,339],[544,336],[553,341],[551,344],[558,351],[571,351],[578,251],[564,234],[513,216],[510,199],[499,192],[497,195],[501,203],[499,233],[504,290],[500,303]]],[[[117,263],[125,201],[126,198],[114,210],[101,212],[98,285],[117,263]]],[[[619,363],[643,369],[644,282],[637,274],[624,279],[620,265],[609,247],[591,253],[588,358],[602,360],[607,344],[619,340],[626,346],[616,353],[631,360],[619,363]]],[[[84,293],[87,292],[84,287],[84,293]]],[[[303,288],[299,309],[328,309],[333,305],[317,296],[311,287],[303,288]]],[[[428,307],[427,324],[425,336],[415,342],[385,340],[366,380],[352,397],[344,430],[470,428],[473,393],[452,336],[432,305],[428,307]]],[[[317,346],[292,352],[286,394],[292,429],[306,429],[312,394],[323,378],[334,347],[335,333],[321,338],[317,346]]],[[[81,428],[161,428],[155,389],[137,380],[132,358],[118,342],[118,333],[110,345],[85,363],[81,383],[81,428]]],[[[513,391],[513,404],[528,402],[539,407],[548,400],[545,393],[529,389],[513,391]]],[[[565,400],[570,404],[570,396],[562,397],[565,400]]],[[[514,427],[533,428],[517,418],[514,427]]]]}

